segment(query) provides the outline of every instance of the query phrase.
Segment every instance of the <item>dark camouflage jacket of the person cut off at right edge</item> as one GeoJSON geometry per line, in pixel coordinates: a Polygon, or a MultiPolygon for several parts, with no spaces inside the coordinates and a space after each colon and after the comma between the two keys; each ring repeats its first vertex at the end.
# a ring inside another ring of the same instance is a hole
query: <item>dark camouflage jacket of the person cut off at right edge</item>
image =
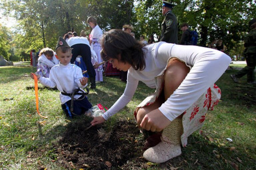
{"type": "Polygon", "coordinates": [[[251,30],[244,39],[244,54],[256,53],[256,28],[251,30]]]}

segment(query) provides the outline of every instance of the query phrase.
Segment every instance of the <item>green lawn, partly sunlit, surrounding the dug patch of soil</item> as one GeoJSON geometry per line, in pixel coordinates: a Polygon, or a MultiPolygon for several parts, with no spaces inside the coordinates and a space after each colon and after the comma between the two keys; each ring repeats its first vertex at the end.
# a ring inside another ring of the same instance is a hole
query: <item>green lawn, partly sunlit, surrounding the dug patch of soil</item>
{"type": "MultiPolygon", "coordinates": [[[[51,161],[57,159],[51,146],[68,124],[61,110],[59,92],[39,84],[39,111],[48,119],[40,118],[35,108],[34,90],[27,89],[34,83],[28,77],[31,71],[36,70],[26,65],[0,67],[0,169],[29,170],[38,169],[40,165],[51,170],[64,169],[51,161]],[[34,156],[36,151],[42,154],[34,156]]],[[[245,76],[240,84],[234,84],[229,75],[236,71],[227,70],[216,83],[222,90],[221,101],[214,111],[208,112],[201,133],[195,132],[189,137],[182,155],[168,164],[149,169],[161,169],[162,166],[188,170],[256,169],[256,104],[249,101],[248,105],[245,100],[256,87],[247,85],[245,76]],[[227,141],[228,137],[233,142],[227,141]]],[[[108,108],[125,88],[125,83],[117,77],[104,77],[104,82],[97,85],[88,99],[93,105],[101,103],[108,108]]],[[[134,108],[153,92],[139,83],[132,101],[107,121],[107,127],[111,128],[119,119],[134,119],[134,108]]],[[[79,118],[72,121],[76,119],[79,118]]]]}

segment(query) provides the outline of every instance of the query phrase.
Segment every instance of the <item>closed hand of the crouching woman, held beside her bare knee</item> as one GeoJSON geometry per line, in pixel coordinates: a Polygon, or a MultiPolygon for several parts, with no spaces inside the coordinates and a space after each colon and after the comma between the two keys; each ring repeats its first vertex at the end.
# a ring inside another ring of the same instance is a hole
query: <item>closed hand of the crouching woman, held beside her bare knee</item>
{"type": "Polygon", "coordinates": [[[170,123],[171,121],[167,119],[159,109],[155,109],[145,115],[140,126],[146,130],[161,131],[170,123]]]}

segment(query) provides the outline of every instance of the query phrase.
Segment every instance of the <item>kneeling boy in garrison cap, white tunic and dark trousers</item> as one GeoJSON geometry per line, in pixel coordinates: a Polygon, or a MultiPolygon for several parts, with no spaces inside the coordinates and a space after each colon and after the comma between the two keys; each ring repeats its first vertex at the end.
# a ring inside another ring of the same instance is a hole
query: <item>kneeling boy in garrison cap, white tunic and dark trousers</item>
{"type": "MultiPolygon", "coordinates": [[[[40,75],[37,75],[37,78],[44,86],[50,88],[57,86],[61,92],[61,107],[67,116],[81,115],[92,107],[85,96],[85,91],[80,89],[87,86],[88,78],[83,77],[80,67],[70,64],[72,49],[62,37],[59,37],[55,51],[60,63],[52,67],[49,78],[40,75]]],[[[34,79],[32,73],[30,77],[34,79]]]]}

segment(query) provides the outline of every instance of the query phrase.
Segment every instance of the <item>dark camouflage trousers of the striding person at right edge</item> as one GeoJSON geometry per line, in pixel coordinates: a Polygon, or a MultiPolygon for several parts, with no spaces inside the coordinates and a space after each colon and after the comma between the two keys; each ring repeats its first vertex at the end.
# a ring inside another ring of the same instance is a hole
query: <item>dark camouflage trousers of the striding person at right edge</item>
{"type": "Polygon", "coordinates": [[[238,71],[235,76],[237,78],[241,78],[245,74],[247,74],[247,82],[251,83],[255,81],[254,69],[256,66],[256,53],[248,53],[246,56],[246,63],[247,66],[245,66],[242,70],[238,71]]]}

